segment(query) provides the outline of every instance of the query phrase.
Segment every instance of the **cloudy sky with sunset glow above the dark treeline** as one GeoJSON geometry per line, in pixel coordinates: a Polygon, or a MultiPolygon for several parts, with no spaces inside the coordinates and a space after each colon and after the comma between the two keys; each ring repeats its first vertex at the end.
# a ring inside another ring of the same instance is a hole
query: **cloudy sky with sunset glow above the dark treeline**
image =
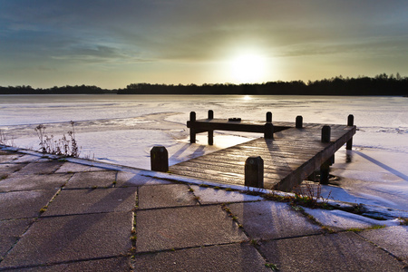
{"type": "Polygon", "coordinates": [[[0,0],[0,86],[408,75],[408,1],[0,0]]]}

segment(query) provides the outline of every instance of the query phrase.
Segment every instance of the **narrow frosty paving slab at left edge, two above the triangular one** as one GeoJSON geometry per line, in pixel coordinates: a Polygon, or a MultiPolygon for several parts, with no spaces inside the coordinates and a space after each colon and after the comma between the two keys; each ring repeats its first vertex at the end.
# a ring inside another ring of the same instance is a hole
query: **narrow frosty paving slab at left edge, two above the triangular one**
{"type": "Polygon", "coordinates": [[[12,175],[0,180],[0,191],[58,189],[72,176],[73,174],[12,175]]]}

